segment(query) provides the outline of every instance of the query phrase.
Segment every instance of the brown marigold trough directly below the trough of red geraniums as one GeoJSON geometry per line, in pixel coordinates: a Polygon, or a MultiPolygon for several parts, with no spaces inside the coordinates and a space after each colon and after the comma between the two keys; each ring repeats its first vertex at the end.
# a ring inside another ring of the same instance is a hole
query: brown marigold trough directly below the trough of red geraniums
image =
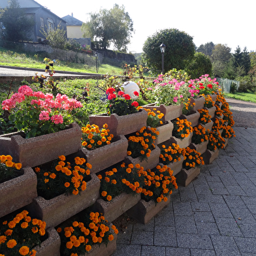
{"type": "Polygon", "coordinates": [[[80,149],[80,156],[85,156],[86,162],[92,166],[91,173],[97,173],[125,159],[128,140],[124,135],[119,135],[116,138],[118,140],[95,150],[80,149]]]}

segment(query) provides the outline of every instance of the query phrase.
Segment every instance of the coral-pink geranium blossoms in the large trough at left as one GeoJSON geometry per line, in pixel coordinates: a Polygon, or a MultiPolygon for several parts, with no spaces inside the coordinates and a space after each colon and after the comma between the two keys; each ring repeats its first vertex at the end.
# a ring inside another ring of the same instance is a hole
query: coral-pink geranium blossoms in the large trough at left
{"type": "Polygon", "coordinates": [[[33,106],[40,111],[39,120],[51,120],[54,123],[63,123],[63,116],[57,115],[56,111],[63,112],[63,110],[71,111],[75,108],[82,107],[80,101],[76,99],[69,99],[67,95],[57,94],[56,99],[51,93],[42,93],[42,91],[33,91],[29,86],[21,86],[18,93],[14,93],[10,99],[3,101],[3,110],[11,110],[16,107],[16,104],[24,103],[26,106],[33,106]],[[50,117],[50,114],[54,115],[50,117]]]}

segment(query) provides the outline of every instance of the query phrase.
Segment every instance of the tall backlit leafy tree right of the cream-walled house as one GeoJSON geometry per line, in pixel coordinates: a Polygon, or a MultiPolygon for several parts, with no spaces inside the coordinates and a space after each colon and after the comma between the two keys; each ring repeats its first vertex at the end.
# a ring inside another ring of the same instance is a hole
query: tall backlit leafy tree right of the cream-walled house
{"type": "Polygon", "coordinates": [[[93,41],[99,41],[104,49],[112,42],[118,50],[127,50],[133,32],[133,20],[123,5],[114,5],[110,10],[100,10],[99,13],[91,13],[89,22],[82,25],[84,37],[91,37],[93,41]]]}

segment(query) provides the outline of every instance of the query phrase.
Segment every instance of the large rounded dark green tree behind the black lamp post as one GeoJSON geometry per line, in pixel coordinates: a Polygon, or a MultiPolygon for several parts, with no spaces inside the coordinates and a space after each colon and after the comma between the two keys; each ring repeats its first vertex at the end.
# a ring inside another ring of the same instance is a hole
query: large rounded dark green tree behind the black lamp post
{"type": "Polygon", "coordinates": [[[148,37],[143,46],[143,59],[153,72],[161,71],[162,56],[159,46],[165,44],[165,71],[185,69],[195,55],[193,37],[178,29],[164,29],[148,37]]]}

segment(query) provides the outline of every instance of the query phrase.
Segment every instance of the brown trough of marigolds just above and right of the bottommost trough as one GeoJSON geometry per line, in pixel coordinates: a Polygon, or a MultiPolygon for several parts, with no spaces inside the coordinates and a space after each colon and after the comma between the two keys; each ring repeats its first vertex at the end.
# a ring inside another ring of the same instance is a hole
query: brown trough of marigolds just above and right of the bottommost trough
{"type": "Polygon", "coordinates": [[[140,199],[140,194],[121,193],[121,195],[114,197],[109,202],[98,199],[93,206],[93,211],[102,213],[105,219],[112,222],[131,207],[135,206],[140,199]]]}

